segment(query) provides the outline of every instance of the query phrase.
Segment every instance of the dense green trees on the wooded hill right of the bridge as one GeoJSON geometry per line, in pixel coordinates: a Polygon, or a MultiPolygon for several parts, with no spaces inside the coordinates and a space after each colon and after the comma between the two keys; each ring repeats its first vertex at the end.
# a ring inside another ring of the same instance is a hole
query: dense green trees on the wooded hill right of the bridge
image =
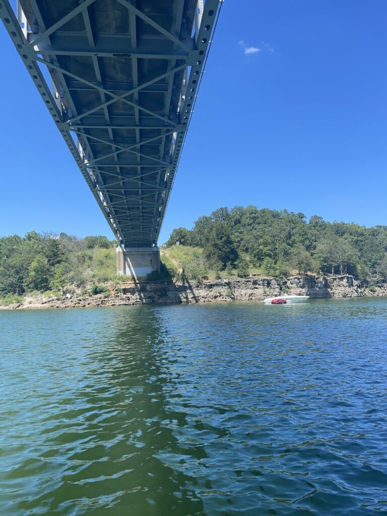
{"type": "Polygon", "coordinates": [[[270,276],[300,273],[350,274],[374,284],[387,278],[387,226],[327,222],[314,215],[256,206],[217,209],[193,229],[176,228],[166,247],[203,249],[208,267],[234,268],[240,276],[259,268],[270,276]]]}

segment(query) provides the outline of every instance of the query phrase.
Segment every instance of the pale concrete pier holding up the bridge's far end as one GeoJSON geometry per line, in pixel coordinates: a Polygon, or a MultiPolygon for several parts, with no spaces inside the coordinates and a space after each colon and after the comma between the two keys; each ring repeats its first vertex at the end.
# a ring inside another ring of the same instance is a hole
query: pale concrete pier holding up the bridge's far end
{"type": "Polygon", "coordinates": [[[139,280],[153,271],[160,272],[158,247],[117,247],[117,274],[139,280]]]}

